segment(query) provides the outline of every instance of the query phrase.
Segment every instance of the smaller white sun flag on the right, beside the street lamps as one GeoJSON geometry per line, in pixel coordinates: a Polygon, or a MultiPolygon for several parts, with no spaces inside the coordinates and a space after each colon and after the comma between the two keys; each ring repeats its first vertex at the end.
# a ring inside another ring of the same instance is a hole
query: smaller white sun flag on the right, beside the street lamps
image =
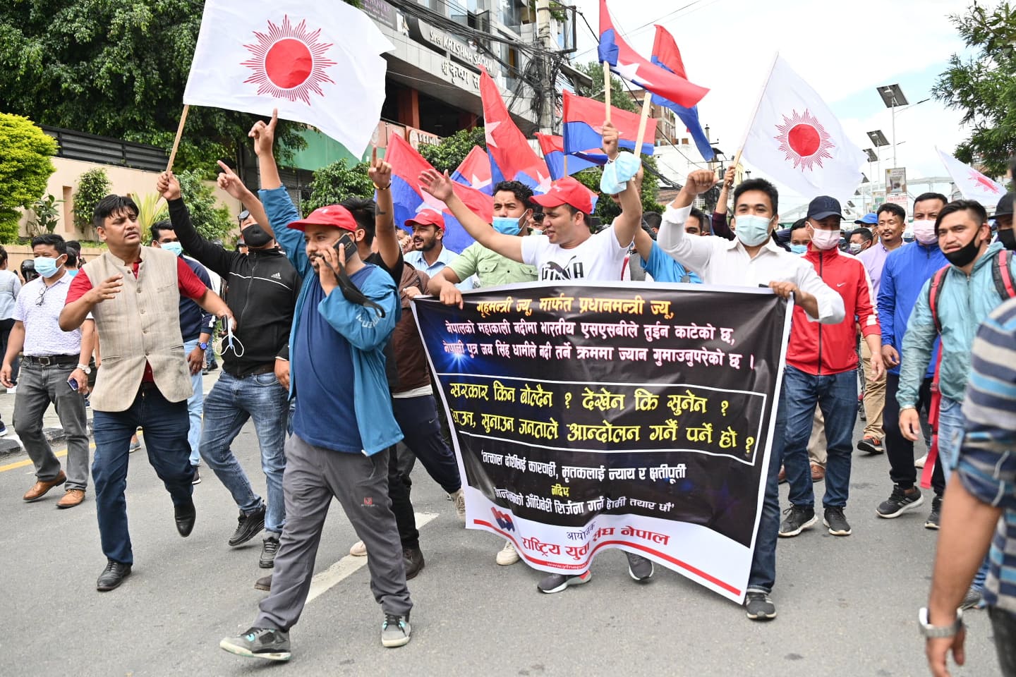
{"type": "Polygon", "coordinates": [[[808,200],[845,200],[861,184],[865,154],[825,101],[776,58],[742,154],[760,174],[808,200]]]}

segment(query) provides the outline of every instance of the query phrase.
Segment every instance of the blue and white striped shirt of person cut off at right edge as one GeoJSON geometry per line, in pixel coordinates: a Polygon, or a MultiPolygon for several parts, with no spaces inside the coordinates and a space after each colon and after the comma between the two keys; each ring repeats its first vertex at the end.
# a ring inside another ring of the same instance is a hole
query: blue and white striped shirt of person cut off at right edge
{"type": "Polygon", "coordinates": [[[985,602],[1016,613],[1016,299],[980,325],[971,366],[956,472],[975,498],[1002,509],[985,602]]]}

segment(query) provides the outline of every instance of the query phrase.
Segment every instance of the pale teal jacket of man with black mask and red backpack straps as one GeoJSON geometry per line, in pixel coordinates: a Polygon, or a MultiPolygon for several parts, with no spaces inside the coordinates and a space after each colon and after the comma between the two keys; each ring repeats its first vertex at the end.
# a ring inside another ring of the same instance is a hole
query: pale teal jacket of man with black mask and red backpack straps
{"type": "MultiPolygon", "coordinates": [[[[992,273],[995,254],[1002,249],[1001,243],[991,245],[983,256],[974,262],[969,277],[956,266],[949,266],[949,272],[942,281],[938,300],[939,324],[942,326],[939,390],[942,397],[955,402],[962,402],[966,391],[970,350],[977,326],[1004,300],[999,295],[992,273]]],[[[1010,260],[1009,267],[1016,277],[1016,260],[1010,260]]],[[[903,337],[902,368],[896,393],[900,408],[912,407],[916,403],[917,389],[924,378],[917,365],[931,359],[938,336],[928,300],[931,286],[932,282],[928,280],[922,287],[903,337]]]]}

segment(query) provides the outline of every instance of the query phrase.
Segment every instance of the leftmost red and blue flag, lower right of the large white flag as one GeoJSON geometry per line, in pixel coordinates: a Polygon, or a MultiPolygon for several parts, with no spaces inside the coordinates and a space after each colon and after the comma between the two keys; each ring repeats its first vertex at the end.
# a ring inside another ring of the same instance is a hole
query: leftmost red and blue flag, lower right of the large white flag
{"type": "MultiPolygon", "coordinates": [[[[401,136],[392,135],[388,139],[388,149],[385,160],[392,166],[391,199],[395,208],[395,225],[404,227],[407,220],[424,209],[440,211],[445,219],[445,234],[443,244],[453,252],[461,252],[473,243],[472,236],[465,231],[444,202],[438,200],[420,187],[420,174],[424,170],[434,167],[424,159],[401,136]]],[[[494,218],[494,199],[474,188],[462,184],[452,184],[455,195],[485,221],[490,223],[494,218]]]]}

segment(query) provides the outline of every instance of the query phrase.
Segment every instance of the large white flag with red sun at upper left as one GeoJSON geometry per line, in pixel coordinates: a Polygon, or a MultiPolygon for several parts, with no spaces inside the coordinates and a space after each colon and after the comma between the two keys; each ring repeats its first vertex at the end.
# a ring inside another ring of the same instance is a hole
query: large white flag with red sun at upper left
{"type": "Polygon", "coordinates": [[[317,127],[361,155],[381,117],[394,47],[344,2],[206,0],[184,104],[317,127]]]}

